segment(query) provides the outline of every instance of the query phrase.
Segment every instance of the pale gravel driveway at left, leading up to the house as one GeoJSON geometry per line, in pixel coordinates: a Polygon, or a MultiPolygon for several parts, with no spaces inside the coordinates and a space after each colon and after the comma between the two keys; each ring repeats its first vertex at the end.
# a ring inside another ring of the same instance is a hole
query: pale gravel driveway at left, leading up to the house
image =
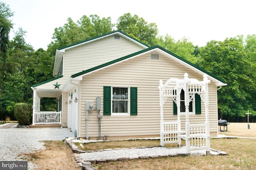
{"type": "Polygon", "coordinates": [[[0,127],[0,161],[24,160],[23,156],[19,156],[20,154],[45,149],[44,143],[40,141],[63,140],[74,136],[74,132],[70,132],[69,128],[16,128],[16,126],[4,128],[4,126],[0,127]]]}

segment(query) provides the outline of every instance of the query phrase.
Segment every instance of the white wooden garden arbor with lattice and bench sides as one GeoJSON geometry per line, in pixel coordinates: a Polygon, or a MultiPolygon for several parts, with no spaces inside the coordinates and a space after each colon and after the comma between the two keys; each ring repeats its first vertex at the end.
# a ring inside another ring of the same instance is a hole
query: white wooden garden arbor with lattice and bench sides
{"type": "Polygon", "coordinates": [[[160,80],[160,142],[161,146],[166,143],[177,143],[181,146],[181,139],[186,140],[186,154],[189,156],[191,150],[206,149],[206,154],[210,154],[210,123],[208,112],[208,80],[207,75],[204,74],[203,81],[197,79],[189,79],[188,74],[184,74],[184,79],[170,78],[163,84],[160,80]],[[180,93],[184,90],[185,98],[185,130],[181,129],[180,120],[180,93]],[[205,122],[200,124],[190,124],[189,121],[189,103],[195,96],[200,95],[201,100],[205,106],[205,122]],[[168,98],[173,99],[177,105],[177,120],[164,121],[164,103],[168,98]]]}

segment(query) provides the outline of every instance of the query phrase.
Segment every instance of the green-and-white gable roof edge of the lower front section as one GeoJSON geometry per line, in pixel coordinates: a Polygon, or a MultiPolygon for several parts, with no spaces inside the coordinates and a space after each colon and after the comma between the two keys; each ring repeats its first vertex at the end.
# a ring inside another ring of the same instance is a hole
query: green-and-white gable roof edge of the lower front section
{"type": "Polygon", "coordinates": [[[104,63],[104,64],[102,64],[102,65],[98,65],[98,66],[96,66],[96,67],[93,67],[93,68],[90,68],[90,69],[81,71],[81,72],[79,72],[79,73],[76,73],[76,74],[74,74],[74,75],[71,75],[71,77],[72,77],[72,78],[76,78],[76,79],[81,79],[82,76],[87,75],[87,74],[89,74],[89,73],[92,73],[92,72],[94,72],[94,71],[98,71],[98,70],[103,69],[103,68],[105,68],[105,67],[109,67],[109,66],[114,65],[114,64],[116,64],[116,63],[123,62],[123,61],[125,61],[125,60],[131,59],[131,58],[134,58],[134,57],[137,57],[137,56],[139,56],[139,55],[142,55],[142,54],[144,54],[144,53],[148,53],[148,52],[154,51],[154,50],[157,50],[159,53],[162,53],[163,55],[166,55],[167,57],[176,60],[177,62],[181,63],[182,65],[184,65],[184,66],[186,66],[186,67],[188,67],[188,68],[190,68],[190,69],[192,69],[192,70],[194,70],[194,71],[196,71],[196,72],[198,72],[198,73],[200,73],[200,74],[202,74],[202,75],[203,75],[204,73],[206,73],[207,75],[210,76],[209,79],[212,79],[213,81],[216,82],[216,85],[217,85],[217,86],[224,86],[224,85],[227,85],[227,84],[225,83],[225,81],[222,80],[222,79],[220,79],[219,77],[217,77],[217,76],[215,76],[215,75],[209,73],[208,71],[206,71],[206,70],[204,70],[204,69],[202,69],[202,68],[200,68],[200,67],[194,65],[193,63],[190,63],[190,62],[187,61],[186,59],[184,59],[184,58],[182,58],[182,57],[180,57],[180,56],[178,56],[178,55],[176,55],[176,54],[174,54],[174,53],[168,51],[167,49],[164,49],[163,47],[161,47],[161,46],[159,46],[159,45],[155,45],[155,46],[153,46],[153,47],[149,47],[149,48],[147,48],[147,49],[143,49],[143,50],[138,51],[138,52],[136,52],[136,53],[132,53],[132,54],[130,54],[130,55],[126,55],[126,56],[124,56],[124,57],[115,59],[115,60],[110,61],[110,62],[108,62],[108,63],[104,63]]]}

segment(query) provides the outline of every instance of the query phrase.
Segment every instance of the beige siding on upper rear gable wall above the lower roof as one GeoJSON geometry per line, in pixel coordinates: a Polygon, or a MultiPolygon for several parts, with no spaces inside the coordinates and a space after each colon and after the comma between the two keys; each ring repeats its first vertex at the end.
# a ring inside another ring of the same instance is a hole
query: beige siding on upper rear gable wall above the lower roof
{"type": "Polygon", "coordinates": [[[63,59],[63,75],[70,76],[142,49],[142,46],[122,36],[116,40],[114,35],[67,49],[63,59]]]}

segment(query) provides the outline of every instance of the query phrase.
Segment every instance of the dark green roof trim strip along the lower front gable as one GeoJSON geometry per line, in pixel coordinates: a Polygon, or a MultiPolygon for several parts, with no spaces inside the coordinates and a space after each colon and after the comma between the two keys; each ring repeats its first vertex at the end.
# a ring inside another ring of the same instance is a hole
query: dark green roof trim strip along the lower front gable
{"type": "Polygon", "coordinates": [[[170,54],[170,55],[173,55],[174,57],[180,59],[181,61],[184,61],[185,63],[191,65],[192,67],[195,67],[196,69],[198,69],[198,70],[200,70],[200,71],[202,71],[202,72],[204,72],[204,73],[210,75],[211,77],[214,77],[214,78],[217,79],[218,81],[221,81],[222,83],[226,83],[224,80],[222,80],[222,79],[220,79],[219,77],[213,75],[212,73],[209,73],[208,71],[206,71],[206,70],[204,70],[204,69],[202,69],[202,68],[200,68],[200,67],[194,65],[193,63],[190,63],[190,62],[187,61],[186,59],[184,59],[184,58],[182,58],[182,57],[180,57],[180,56],[178,56],[178,55],[176,55],[176,54],[174,54],[174,53],[168,51],[167,49],[164,49],[163,47],[161,47],[161,46],[159,46],[159,45],[155,45],[155,46],[153,46],[153,47],[149,47],[149,48],[143,49],[143,50],[138,51],[138,52],[136,52],[136,53],[132,53],[132,54],[130,54],[130,55],[126,55],[126,56],[124,56],[124,57],[115,59],[115,60],[110,61],[110,62],[108,62],[108,63],[104,63],[104,64],[102,64],[102,65],[98,65],[98,66],[96,66],[96,67],[93,67],[93,68],[90,68],[90,69],[81,71],[80,73],[76,73],[76,74],[71,75],[71,77],[74,78],[74,77],[78,77],[78,76],[83,75],[83,74],[86,74],[86,73],[90,73],[91,71],[95,71],[95,70],[100,69],[100,68],[102,68],[102,67],[106,67],[106,66],[108,66],[108,65],[117,63],[117,62],[122,61],[122,60],[124,60],[124,59],[128,59],[128,58],[130,58],[130,57],[133,57],[133,56],[138,55],[138,54],[140,54],[140,53],[144,53],[144,52],[146,52],[146,51],[150,51],[150,50],[155,49],[155,48],[159,48],[159,49],[165,51],[166,53],[168,53],[168,54],[170,54]]]}

